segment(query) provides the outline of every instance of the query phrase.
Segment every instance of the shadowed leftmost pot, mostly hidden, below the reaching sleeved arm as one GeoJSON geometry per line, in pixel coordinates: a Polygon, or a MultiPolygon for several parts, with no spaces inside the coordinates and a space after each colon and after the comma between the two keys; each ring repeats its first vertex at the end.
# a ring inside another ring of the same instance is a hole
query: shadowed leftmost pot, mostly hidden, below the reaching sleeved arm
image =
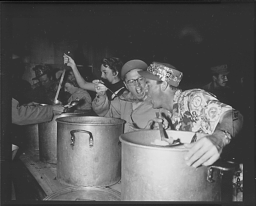
{"type": "Polygon", "coordinates": [[[26,149],[39,150],[38,124],[23,125],[23,134],[26,138],[26,149]]]}

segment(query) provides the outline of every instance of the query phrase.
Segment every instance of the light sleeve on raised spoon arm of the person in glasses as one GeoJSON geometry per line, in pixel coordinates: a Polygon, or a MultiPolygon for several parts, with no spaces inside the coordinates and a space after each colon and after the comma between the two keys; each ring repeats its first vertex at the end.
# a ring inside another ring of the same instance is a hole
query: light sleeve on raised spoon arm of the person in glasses
{"type": "Polygon", "coordinates": [[[121,104],[117,97],[110,102],[107,95],[96,95],[92,106],[95,113],[99,116],[121,118],[121,104]]]}

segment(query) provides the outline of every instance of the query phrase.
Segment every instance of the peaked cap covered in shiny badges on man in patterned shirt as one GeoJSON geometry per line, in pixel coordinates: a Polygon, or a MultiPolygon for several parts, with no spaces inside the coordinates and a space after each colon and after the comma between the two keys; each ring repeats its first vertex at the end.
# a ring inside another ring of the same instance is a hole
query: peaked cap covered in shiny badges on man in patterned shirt
{"type": "Polygon", "coordinates": [[[138,71],[138,73],[147,79],[166,81],[174,87],[179,86],[183,76],[183,73],[176,70],[174,66],[159,62],[152,62],[147,71],[138,71]]]}

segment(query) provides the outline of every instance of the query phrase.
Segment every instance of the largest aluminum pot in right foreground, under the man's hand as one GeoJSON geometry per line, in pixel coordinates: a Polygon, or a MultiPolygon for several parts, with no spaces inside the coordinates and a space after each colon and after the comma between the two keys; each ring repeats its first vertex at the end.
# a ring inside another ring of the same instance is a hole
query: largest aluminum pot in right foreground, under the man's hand
{"type": "MultiPolygon", "coordinates": [[[[166,133],[179,138],[181,143],[206,135],[176,130],[166,130],[166,133]]],[[[119,139],[122,142],[122,200],[221,201],[221,174],[231,168],[187,166],[184,155],[188,149],[183,144],[164,147],[151,144],[161,139],[159,130],[125,133],[119,139]]]]}

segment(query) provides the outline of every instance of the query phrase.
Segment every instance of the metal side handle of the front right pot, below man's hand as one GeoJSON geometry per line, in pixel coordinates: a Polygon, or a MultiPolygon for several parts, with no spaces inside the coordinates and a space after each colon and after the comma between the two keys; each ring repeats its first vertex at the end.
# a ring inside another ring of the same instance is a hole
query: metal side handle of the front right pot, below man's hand
{"type": "Polygon", "coordinates": [[[213,171],[214,169],[219,169],[220,174],[223,175],[223,171],[235,171],[235,169],[239,166],[239,164],[231,161],[216,161],[213,165],[208,167],[207,171],[207,181],[210,183],[215,182],[213,179],[213,171]]]}

